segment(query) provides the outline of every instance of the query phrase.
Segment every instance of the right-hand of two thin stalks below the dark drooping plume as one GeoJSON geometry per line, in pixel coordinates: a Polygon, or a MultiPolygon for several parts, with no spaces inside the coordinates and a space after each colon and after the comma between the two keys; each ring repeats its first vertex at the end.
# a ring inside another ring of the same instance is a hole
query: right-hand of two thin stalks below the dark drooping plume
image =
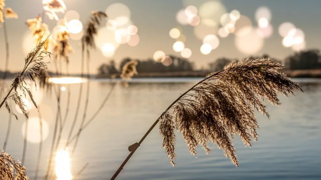
{"type": "MultiPolygon", "coordinates": [[[[87,79],[88,79],[88,81],[87,81],[87,93],[86,93],[85,108],[84,108],[84,111],[83,111],[82,121],[81,121],[79,129],[82,129],[83,124],[85,123],[88,104],[89,104],[89,94],[90,94],[90,67],[89,67],[89,60],[90,60],[90,53],[89,53],[89,49],[87,47],[87,79]]],[[[78,130],[78,132],[79,132],[79,130],[78,130]]],[[[71,153],[71,157],[73,157],[73,155],[74,155],[74,152],[76,150],[79,137],[80,137],[80,135],[78,135],[77,138],[76,138],[76,141],[74,143],[74,147],[73,147],[73,150],[72,150],[72,153],[71,153]]]]}

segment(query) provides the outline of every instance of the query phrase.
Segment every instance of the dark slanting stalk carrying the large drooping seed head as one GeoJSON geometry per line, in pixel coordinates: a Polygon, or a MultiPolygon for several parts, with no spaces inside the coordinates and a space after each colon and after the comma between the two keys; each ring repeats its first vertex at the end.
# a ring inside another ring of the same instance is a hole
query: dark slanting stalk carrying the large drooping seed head
{"type": "MultiPolygon", "coordinates": [[[[201,84],[202,82],[204,82],[206,79],[208,78],[212,78],[213,76],[216,76],[218,74],[222,73],[222,71],[220,72],[216,72],[213,75],[201,80],[200,82],[198,82],[197,84],[195,84],[193,87],[189,88],[185,93],[181,94],[171,105],[169,105],[169,107],[165,110],[168,111],[176,102],[178,102],[178,100],[180,100],[184,95],[186,95],[189,91],[191,91],[194,87],[198,86],[199,84],[201,84]]],[[[160,119],[157,119],[154,124],[148,129],[148,131],[145,133],[145,135],[142,137],[142,139],[139,141],[138,146],[141,145],[141,143],[143,143],[144,139],[147,137],[147,135],[149,135],[149,133],[152,131],[152,129],[156,126],[156,124],[159,122],[160,119]]],[[[114,180],[116,179],[116,177],[118,176],[118,174],[120,173],[120,171],[124,168],[124,166],[126,165],[127,161],[132,157],[132,155],[134,154],[134,152],[137,150],[137,148],[134,151],[131,151],[129,153],[129,155],[127,156],[127,158],[124,160],[124,162],[120,165],[120,167],[117,169],[117,171],[115,172],[115,174],[111,177],[110,180],[114,180]]]]}

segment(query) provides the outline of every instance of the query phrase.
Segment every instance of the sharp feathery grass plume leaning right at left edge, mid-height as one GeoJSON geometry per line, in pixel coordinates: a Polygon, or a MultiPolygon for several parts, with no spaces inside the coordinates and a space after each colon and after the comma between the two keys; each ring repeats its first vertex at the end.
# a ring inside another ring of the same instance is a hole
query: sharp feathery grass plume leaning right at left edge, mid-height
{"type": "Polygon", "coordinates": [[[32,103],[37,108],[36,102],[33,100],[33,96],[31,94],[30,89],[27,87],[29,84],[25,81],[25,78],[29,78],[30,81],[35,83],[35,79],[40,77],[40,72],[43,68],[47,68],[47,64],[43,61],[45,57],[51,55],[51,53],[47,51],[43,51],[43,46],[47,43],[48,38],[44,41],[40,40],[39,44],[28,53],[25,58],[25,64],[22,70],[18,72],[16,77],[13,79],[11,84],[11,88],[8,94],[4,97],[4,100],[0,104],[0,108],[5,104],[5,108],[9,113],[13,114],[15,118],[18,120],[17,115],[15,115],[8,103],[9,99],[12,99],[22,110],[22,113],[26,118],[28,118],[25,104],[22,101],[22,95],[17,92],[17,89],[21,90],[23,95],[30,97],[32,103]]]}

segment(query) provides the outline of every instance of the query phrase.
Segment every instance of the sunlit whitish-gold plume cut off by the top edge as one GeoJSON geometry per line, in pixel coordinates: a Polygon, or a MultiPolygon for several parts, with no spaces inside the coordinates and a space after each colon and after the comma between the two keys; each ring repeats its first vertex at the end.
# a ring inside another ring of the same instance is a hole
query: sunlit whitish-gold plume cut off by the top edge
{"type": "Polygon", "coordinates": [[[43,0],[43,9],[46,11],[50,20],[59,20],[57,12],[65,13],[66,5],[62,0],[43,0]]]}

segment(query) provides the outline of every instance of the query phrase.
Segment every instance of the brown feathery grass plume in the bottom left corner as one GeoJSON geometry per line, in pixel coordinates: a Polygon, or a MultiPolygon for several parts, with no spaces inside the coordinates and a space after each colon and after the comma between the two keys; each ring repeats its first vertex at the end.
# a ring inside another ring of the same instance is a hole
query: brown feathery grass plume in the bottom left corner
{"type": "Polygon", "coordinates": [[[29,180],[26,169],[15,161],[10,154],[4,151],[0,154],[0,179],[1,180],[29,180]]]}

